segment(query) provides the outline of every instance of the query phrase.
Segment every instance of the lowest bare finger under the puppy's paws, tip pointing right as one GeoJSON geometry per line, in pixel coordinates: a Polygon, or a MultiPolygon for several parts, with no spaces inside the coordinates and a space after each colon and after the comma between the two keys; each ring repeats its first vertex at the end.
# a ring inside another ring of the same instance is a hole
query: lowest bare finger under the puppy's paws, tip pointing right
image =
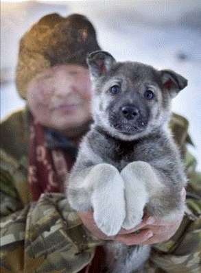
{"type": "Polygon", "coordinates": [[[127,235],[116,235],[115,241],[119,241],[122,244],[127,246],[142,244],[144,241],[147,241],[150,237],[153,236],[151,230],[140,230],[139,233],[130,233],[127,235]]]}

